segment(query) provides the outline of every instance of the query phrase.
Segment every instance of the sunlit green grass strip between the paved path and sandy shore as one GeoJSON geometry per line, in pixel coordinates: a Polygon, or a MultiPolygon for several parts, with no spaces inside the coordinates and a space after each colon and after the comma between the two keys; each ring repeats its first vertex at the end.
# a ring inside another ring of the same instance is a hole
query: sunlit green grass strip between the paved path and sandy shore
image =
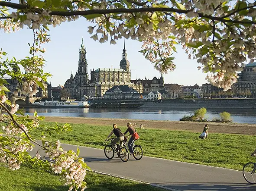
{"type": "MultiPolygon", "coordinates": [[[[52,122],[42,122],[53,125],[52,122]]],[[[48,137],[63,143],[104,148],[103,142],[112,128],[103,125],[72,124],[73,131],[48,137]]],[[[124,132],[125,128],[121,127],[124,132]]],[[[189,163],[219,166],[241,170],[254,161],[250,153],[256,148],[256,137],[210,133],[207,140],[198,138],[200,133],[159,129],[138,129],[141,138],[136,144],[143,146],[145,155],[189,163]]],[[[33,132],[40,138],[39,132],[33,132]]]]}

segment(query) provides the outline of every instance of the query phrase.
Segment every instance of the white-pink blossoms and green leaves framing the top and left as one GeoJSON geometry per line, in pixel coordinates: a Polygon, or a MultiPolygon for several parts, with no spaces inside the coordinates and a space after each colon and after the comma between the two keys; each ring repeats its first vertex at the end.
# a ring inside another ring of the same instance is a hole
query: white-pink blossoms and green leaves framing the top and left
{"type": "MultiPolygon", "coordinates": [[[[237,81],[237,72],[243,68],[246,59],[254,59],[256,51],[256,2],[247,0],[0,0],[0,29],[16,31],[27,27],[33,31],[33,44],[29,44],[31,56],[22,60],[6,59],[7,53],[0,50],[0,96],[3,110],[1,121],[5,134],[21,138],[0,138],[0,160],[7,161],[12,169],[29,157],[26,150],[36,143],[29,135],[33,128],[46,132],[61,132],[69,126],[55,128],[40,127],[42,117],[35,114],[33,119],[18,117],[18,106],[6,100],[3,78],[9,75],[19,81],[16,94],[33,96],[42,81],[50,76],[43,72],[45,49],[42,44],[49,42],[49,25],[57,26],[84,17],[91,22],[88,32],[100,43],[110,41],[116,44],[120,38],[143,42],[141,53],[160,72],[175,69],[172,55],[180,44],[188,58],[197,59],[198,69],[208,73],[211,84],[227,91],[237,81]],[[21,69],[25,69],[25,73],[21,69]],[[12,145],[13,147],[7,147],[12,145]],[[23,154],[19,154],[23,153],[23,154]]],[[[49,165],[61,173],[71,184],[70,189],[86,188],[83,178],[87,166],[73,151],[57,152],[59,144],[40,145],[55,163],[49,165]],[[64,161],[66,161],[64,163],[64,161]],[[75,165],[75,167],[71,167],[75,165]],[[70,169],[79,169],[77,177],[70,169]]],[[[29,159],[32,159],[31,157],[29,159]]],[[[39,160],[33,158],[34,163],[39,160]]]]}

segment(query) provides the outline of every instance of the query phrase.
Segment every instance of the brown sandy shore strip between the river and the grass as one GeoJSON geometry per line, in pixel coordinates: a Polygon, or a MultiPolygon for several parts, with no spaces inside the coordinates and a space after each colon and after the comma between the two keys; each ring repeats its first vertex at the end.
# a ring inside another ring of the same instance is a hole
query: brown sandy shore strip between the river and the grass
{"type": "MultiPolygon", "coordinates": [[[[181,130],[191,132],[201,132],[205,122],[181,122],[181,121],[157,121],[157,120],[137,120],[137,119],[107,119],[107,118],[83,118],[83,117],[45,117],[48,122],[78,123],[90,125],[109,125],[113,123],[119,126],[126,126],[127,122],[137,123],[139,127],[143,124],[146,128],[181,130]]],[[[209,133],[232,133],[244,135],[256,135],[256,125],[240,123],[215,123],[207,122],[210,127],[209,133]]]]}

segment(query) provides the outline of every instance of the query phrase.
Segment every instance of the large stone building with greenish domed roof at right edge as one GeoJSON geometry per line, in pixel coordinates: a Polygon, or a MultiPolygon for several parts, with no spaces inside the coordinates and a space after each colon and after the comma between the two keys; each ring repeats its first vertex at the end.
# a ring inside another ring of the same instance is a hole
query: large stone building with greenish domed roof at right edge
{"type": "Polygon", "coordinates": [[[237,91],[256,93],[256,63],[249,63],[238,74],[239,78],[236,83],[237,91]]]}

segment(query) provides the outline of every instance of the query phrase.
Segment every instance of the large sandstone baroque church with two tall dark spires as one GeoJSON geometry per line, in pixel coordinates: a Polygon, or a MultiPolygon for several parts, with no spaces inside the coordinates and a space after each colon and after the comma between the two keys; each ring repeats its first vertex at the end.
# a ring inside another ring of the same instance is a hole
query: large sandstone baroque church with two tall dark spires
{"type": "Polygon", "coordinates": [[[123,47],[123,59],[120,61],[120,69],[98,68],[91,70],[91,80],[88,74],[86,48],[83,40],[79,49],[78,71],[65,82],[65,89],[71,98],[102,97],[107,90],[116,85],[128,85],[139,93],[143,92],[142,84],[131,83],[130,63],[127,60],[125,44],[123,47]]]}

